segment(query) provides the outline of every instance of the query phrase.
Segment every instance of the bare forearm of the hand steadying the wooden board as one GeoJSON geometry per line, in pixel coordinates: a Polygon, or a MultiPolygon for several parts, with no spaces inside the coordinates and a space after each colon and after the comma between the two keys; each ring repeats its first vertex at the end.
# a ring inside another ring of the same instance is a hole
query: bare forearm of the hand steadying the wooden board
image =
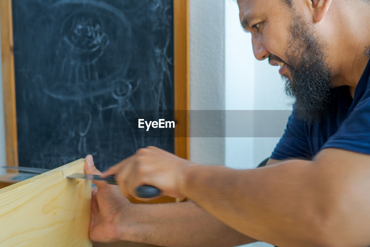
{"type": "Polygon", "coordinates": [[[132,205],[135,223],[125,240],[176,247],[232,247],[256,240],[233,230],[193,202],[132,205]]]}

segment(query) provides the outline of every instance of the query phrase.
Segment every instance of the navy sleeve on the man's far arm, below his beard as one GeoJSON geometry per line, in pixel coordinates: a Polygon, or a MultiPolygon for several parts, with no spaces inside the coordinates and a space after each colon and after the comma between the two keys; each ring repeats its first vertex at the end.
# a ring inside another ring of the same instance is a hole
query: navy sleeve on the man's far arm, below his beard
{"type": "Polygon", "coordinates": [[[296,111],[288,119],[285,133],[272,152],[272,159],[289,158],[311,159],[310,146],[305,131],[305,123],[296,117],[296,111]]]}

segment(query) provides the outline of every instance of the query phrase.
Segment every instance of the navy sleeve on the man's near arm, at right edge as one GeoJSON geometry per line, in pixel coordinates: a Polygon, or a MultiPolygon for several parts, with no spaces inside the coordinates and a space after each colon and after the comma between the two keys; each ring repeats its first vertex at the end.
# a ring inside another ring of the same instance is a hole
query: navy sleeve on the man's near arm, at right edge
{"type": "MultiPolygon", "coordinates": [[[[367,92],[367,94],[370,91],[367,92]]],[[[370,95],[364,95],[356,107],[322,146],[340,148],[363,154],[370,154],[370,95]]]]}

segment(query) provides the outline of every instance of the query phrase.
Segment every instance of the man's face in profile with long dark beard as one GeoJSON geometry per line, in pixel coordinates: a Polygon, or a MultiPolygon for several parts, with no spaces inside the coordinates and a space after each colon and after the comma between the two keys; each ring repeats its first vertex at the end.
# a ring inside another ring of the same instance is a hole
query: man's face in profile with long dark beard
{"type": "Polygon", "coordinates": [[[240,22],[252,34],[253,53],[279,65],[286,92],[305,121],[321,121],[330,111],[331,71],[326,44],[303,14],[283,0],[238,0],[240,22]]]}

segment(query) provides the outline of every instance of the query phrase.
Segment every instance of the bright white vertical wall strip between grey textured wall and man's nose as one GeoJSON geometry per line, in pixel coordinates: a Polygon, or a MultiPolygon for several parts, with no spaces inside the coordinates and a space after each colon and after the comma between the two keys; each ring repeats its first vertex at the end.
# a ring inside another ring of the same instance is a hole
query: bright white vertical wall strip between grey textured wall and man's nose
{"type": "MultiPolygon", "coordinates": [[[[226,136],[234,131],[233,110],[253,110],[254,60],[250,36],[242,32],[239,9],[235,2],[225,0],[225,110],[226,136]],[[229,112],[230,111],[230,112],[229,112]],[[230,113],[230,114],[228,114],[230,113]]],[[[248,119],[245,119],[248,121],[248,119]]],[[[233,168],[253,167],[253,138],[226,137],[225,164],[233,168]]]]}

